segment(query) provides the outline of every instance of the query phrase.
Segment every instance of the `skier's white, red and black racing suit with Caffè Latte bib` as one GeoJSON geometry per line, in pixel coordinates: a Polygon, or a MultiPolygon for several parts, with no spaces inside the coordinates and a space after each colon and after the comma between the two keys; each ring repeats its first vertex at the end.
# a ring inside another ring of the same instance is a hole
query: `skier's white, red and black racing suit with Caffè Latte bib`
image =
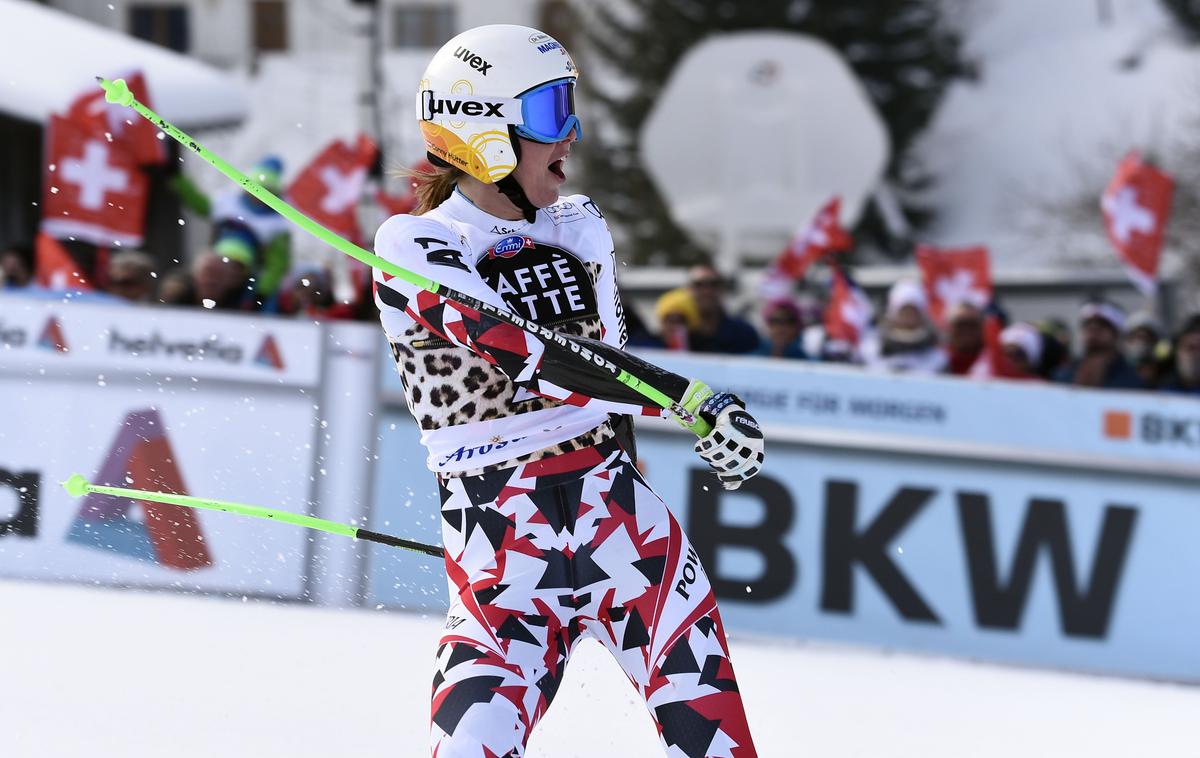
{"type": "MultiPolygon", "coordinates": [[[[380,257],[572,337],[682,396],[688,380],[622,353],[607,224],[584,195],[533,223],[461,192],[394,216],[380,257]],[[634,362],[630,362],[634,361],[634,362]]],[[[518,757],[580,639],[644,699],[667,756],[755,756],[716,602],[634,467],[636,392],[552,341],[376,270],[376,302],[442,498],[450,610],[437,652],[436,758],[518,757]]]]}

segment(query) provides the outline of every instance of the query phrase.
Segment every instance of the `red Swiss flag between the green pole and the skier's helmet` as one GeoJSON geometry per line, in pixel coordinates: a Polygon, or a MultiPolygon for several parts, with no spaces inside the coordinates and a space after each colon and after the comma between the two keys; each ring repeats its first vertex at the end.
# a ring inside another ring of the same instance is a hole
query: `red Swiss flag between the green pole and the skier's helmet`
{"type": "Polygon", "coordinates": [[[288,199],[313,221],[360,242],[356,210],[374,155],[374,143],[366,134],[359,134],[353,145],[331,143],[292,182],[288,199]]]}

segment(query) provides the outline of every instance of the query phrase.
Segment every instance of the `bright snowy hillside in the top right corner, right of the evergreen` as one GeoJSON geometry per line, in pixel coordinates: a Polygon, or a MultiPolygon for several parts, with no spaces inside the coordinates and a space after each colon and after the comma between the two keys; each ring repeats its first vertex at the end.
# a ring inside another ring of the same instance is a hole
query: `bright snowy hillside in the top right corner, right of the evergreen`
{"type": "Polygon", "coordinates": [[[922,142],[938,181],[931,236],[989,243],[1001,269],[1111,264],[1103,230],[1045,240],[1030,206],[1088,191],[1098,203],[1127,150],[1194,132],[1200,48],[1181,43],[1156,0],[1112,0],[1106,23],[1096,0],[956,5],[982,77],[949,90],[922,142]]]}

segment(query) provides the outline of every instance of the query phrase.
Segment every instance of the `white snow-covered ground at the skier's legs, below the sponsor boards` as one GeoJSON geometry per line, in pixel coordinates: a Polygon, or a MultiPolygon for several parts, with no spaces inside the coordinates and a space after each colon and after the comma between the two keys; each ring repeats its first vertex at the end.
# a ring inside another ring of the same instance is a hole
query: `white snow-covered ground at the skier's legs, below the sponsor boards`
{"type": "MultiPolygon", "coordinates": [[[[0,582],[0,754],[425,756],[440,621],[0,582]]],[[[733,640],[764,758],[1188,756],[1200,688],[733,640]]],[[[660,756],[596,644],[530,757],[660,756]]]]}

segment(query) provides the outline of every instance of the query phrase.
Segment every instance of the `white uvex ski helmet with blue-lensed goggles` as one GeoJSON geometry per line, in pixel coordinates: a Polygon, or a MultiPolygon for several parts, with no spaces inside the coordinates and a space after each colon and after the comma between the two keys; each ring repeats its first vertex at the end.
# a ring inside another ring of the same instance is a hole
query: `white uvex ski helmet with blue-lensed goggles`
{"type": "Polygon", "coordinates": [[[476,26],[437,52],[421,76],[416,118],[434,164],[458,168],[485,182],[503,182],[516,168],[515,136],[560,142],[575,130],[570,54],[550,35],[514,24],[476,26]]]}

